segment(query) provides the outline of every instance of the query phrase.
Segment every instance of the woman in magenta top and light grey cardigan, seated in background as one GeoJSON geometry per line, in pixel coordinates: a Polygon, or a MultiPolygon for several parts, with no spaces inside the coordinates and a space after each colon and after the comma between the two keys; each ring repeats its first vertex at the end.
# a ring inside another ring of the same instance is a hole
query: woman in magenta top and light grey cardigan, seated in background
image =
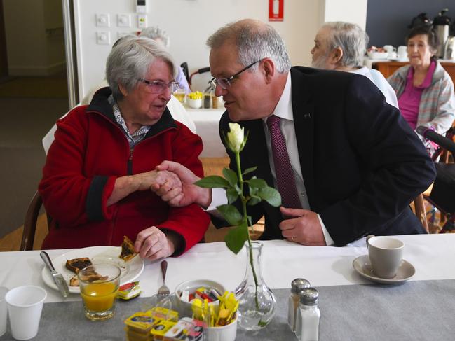
{"type": "MultiPolygon", "coordinates": [[[[398,97],[402,116],[416,130],[420,125],[445,134],[454,123],[454,83],[437,61],[437,36],[428,26],[415,27],[406,37],[409,65],[400,67],[387,81],[398,97]]],[[[428,153],[435,144],[421,138],[428,153]]]]}

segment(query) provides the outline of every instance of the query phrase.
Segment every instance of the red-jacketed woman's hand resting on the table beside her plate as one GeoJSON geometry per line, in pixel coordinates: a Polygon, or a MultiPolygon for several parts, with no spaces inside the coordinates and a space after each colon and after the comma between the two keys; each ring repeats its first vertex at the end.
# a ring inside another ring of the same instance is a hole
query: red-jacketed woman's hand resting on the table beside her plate
{"type": "Polygon", "coordinates": [[[135,241],[135,252],[141,258],[156,260],[166,258],[175,251],[175,244],[163,231],[155,226],[146,228],[137,234],[135,241]]]}

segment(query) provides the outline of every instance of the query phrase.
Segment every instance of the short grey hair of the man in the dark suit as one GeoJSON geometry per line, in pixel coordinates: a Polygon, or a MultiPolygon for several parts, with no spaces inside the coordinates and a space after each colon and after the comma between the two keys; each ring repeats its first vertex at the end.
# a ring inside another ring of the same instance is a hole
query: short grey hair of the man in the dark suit
{"type": "MultiPolygon", "coordinates": [[[[207,45],[211,49],[216,49],[229,40],[235,42],[238,62],[243,66],[269,57],[275,63],[278,73],[283,74],[291,69],[285,42],[270,25],[259,20],[231,22],[212,34],[207,40],[207,45]]],[[[257,71],[257,68],[255,64],[250,68],[250,72],[257,71]]]]}

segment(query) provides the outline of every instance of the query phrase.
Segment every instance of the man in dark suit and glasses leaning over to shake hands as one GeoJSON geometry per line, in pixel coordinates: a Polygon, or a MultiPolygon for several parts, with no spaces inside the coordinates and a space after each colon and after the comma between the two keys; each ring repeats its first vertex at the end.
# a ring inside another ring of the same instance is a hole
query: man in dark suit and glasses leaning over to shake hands
{"type": "MultiPolygon", "coordinates": [[[[279,209],[266,202],[248,207],[253,223],[265,215],[262,239],[341,246],[368,234],[425,232],[409,203],[435,179],[433,162],[400,111],[386,104],[371,81],[291,68],[283,40],[257,20],[222,27],[208,46],[215,94],[226,107],[220,136],[230,122],[245,127],[243,169],[257,166],[250,175],[280,190],[283,198],[279,209]],[[278,118],[278,134],[284,137],[280,153],[270,118],[278,118]],[[276,167],[283,165],[283,154],[290,165],[285,181],[283,166],[276,167]],[[291,190],[283,190],[290,183],[291,190]],[[290,192],[297,200],[288,199],[290,192]]],[[[212,202],[212,190],[191,185],[198,178],[180,165],[165,162],[161,169],[173,170],[183,183],[181,192],[158,190],[163,200],[176,206],[212,202]]]]}

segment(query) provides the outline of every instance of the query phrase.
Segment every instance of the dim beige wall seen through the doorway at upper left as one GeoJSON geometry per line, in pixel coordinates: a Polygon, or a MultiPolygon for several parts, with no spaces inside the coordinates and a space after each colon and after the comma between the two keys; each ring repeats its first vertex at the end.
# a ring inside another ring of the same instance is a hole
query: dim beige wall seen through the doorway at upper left
{"type": "Polygon", "coordinates": [[[62,1],[4,0],[8,74],[48,76],[64,69],[62,1]]]}

